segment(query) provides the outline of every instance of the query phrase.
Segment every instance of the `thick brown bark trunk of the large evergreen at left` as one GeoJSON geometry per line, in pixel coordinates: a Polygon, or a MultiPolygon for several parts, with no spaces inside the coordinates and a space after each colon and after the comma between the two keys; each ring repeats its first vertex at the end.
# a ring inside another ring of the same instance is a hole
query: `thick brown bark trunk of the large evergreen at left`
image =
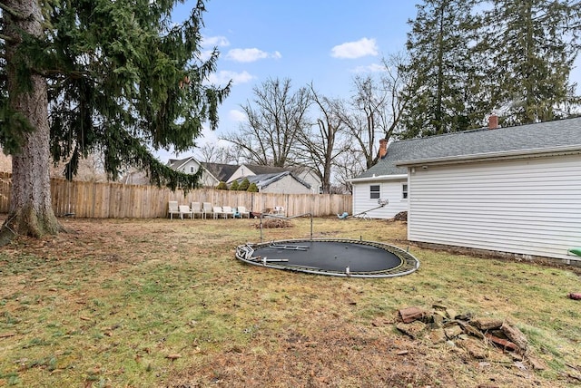
{"type": "Polygon", "coordinates": [[[44,77],[30,73],[29,90],[23,91],[16,69],[25,63],[18,62],[21,38],[18,29],[28,34],[43,34],[42,14],[37,0],[7,1],[14,15],[5,12],[5,32],[11,37],[6,42],[6,63],[10,108],[21,114],[34,128],[24,135],[21,150],[12,155],[12,192],[10,208],[0,233],[0,245],[15,235],[35,238],[58,233],[60,226],[51,204],[50,188],[50,131],[48,125],[48,97],[44,77]]]}

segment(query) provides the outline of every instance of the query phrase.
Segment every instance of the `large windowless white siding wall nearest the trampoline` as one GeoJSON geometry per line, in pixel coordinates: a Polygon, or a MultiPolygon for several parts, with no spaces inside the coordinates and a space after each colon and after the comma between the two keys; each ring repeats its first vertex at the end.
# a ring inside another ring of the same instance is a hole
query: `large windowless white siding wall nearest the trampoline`
{"type": "Polygon", "coordinates": [[[408,238],[518,255],[577,259],[581,157],[409,169],[408,238]]]}

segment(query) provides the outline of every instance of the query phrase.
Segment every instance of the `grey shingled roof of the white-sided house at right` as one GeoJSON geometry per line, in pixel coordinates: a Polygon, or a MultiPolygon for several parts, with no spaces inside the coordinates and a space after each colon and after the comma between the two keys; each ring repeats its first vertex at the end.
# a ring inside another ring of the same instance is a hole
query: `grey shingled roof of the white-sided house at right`
{"type": "Polygon", "coordinates": [[[385,159],[356,179],[407,174],[402,163],[411,160],[485,157],[487,154],[550,150],[571,147],[581,150],[581,118],[539,122],[516,127],[460,131],[428,138],[395,141],[385,159]]]}

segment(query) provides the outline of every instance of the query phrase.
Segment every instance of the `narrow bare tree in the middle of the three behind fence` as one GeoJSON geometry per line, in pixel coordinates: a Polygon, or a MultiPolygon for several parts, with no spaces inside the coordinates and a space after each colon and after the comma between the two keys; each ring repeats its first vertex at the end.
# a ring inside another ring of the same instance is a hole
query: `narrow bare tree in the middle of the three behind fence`
{"type": "Polygon", "coordinates": [[[297,161],[317,173],[322,182],[323,193],[329,194],[335,160],[341,153],[349,150],[349,141],[343,136],[346,131],[340,114],[336,112],[337,102],[316,92],[312,83],[310,94],[320,110],[320,118],[316,124],[300,133],[299,141],[303,151],[297,161]]]}

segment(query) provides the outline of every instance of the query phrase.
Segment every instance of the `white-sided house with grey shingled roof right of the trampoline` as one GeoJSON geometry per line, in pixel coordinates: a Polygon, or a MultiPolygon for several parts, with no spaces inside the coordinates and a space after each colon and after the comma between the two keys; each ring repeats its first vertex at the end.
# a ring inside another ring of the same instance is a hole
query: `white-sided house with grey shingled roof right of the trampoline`
{"type": "MultiPolygon", "coordinates": [[[[579,177],[581,118],[509,128],[493,121],[492,129],[390,144],[352,180],[354,211],[379,186],[387,209],[407,201],[411,241],[578,260],[566,252],[581,245],[579,177]]],[[[379,210],[372,217],[393,213],[379,210]]]]}

